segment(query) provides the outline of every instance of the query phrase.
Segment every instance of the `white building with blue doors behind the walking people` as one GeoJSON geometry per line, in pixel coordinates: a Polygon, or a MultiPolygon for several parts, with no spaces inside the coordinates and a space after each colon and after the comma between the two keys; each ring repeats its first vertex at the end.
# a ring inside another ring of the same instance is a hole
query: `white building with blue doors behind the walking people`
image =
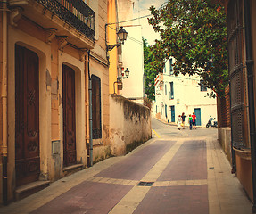
{"type": "MultiPolygon", "coordinates": [[[[176,122],[182,112],[186,116],[194,112],[196,125],[205,127],[210,117],[217,119],[217,101],[207,96],[207,93],[211,93],[210,89],[199,86],[202,81],[200,77],[173,75],[171,64],[174,61],[174,58],[170,58],[163,72],[155,78],[153,115],[167,122],[176,122]]],[[[187,121],[188,117],[186,125],[187,121]]]]}

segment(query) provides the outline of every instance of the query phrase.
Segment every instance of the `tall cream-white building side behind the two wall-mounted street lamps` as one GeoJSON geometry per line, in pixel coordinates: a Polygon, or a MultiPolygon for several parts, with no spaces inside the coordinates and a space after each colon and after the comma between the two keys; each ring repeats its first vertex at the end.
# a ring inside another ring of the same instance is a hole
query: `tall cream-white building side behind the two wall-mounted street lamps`
{"type": "Polygon", "coordinates": [[[130,71],[128,78],[122,79],[123,88],[120,95],[143,103],[144,96],[144,57],[142,27],[139,20],[133,20],[135,1],[118,0],[120,26],[128,32],[128,38],[122,45],[122,67],[130,71]]]}

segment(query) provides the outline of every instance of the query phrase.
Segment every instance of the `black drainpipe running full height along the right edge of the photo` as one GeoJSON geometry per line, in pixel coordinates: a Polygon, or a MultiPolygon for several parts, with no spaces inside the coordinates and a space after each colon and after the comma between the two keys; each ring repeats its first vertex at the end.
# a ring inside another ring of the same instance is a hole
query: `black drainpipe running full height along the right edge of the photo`
{"type": "Polygon", "coordinates": [[[251,11],[250,1],[244,0],[244,25],[245,25],[245,49],[246,49],[246,69],[248,80],[248,101],[249,101],[249,120],[250,138],[252,155],[252,191],[253,205],[252,212],[256,213],[256,142],[255,142],[255,109],[253,93],[253,60],[252,60],[252,31],[251,31],[251,11]]]}

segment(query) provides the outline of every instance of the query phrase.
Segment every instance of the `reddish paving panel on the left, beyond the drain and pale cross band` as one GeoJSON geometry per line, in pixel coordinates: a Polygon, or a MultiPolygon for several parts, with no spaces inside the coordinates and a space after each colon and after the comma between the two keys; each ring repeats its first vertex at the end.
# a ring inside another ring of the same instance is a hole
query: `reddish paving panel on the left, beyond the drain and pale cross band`
{"type": "Polygon", "coordinates": [[[149,144],[144,149],[128,156],[125,160],[103,170],[96,177],[140,180],[169,151],[174,143],[174,141],[156,141],[149,144]]]}

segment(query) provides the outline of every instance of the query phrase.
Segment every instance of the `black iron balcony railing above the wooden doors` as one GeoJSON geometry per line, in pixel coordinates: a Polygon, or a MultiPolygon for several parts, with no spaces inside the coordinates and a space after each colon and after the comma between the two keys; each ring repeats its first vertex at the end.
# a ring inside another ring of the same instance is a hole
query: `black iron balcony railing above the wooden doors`
{"type": "Polygon", "coordinates": [[[83,0],[36,0],[95,42],[95,12],[83,0]]]}

